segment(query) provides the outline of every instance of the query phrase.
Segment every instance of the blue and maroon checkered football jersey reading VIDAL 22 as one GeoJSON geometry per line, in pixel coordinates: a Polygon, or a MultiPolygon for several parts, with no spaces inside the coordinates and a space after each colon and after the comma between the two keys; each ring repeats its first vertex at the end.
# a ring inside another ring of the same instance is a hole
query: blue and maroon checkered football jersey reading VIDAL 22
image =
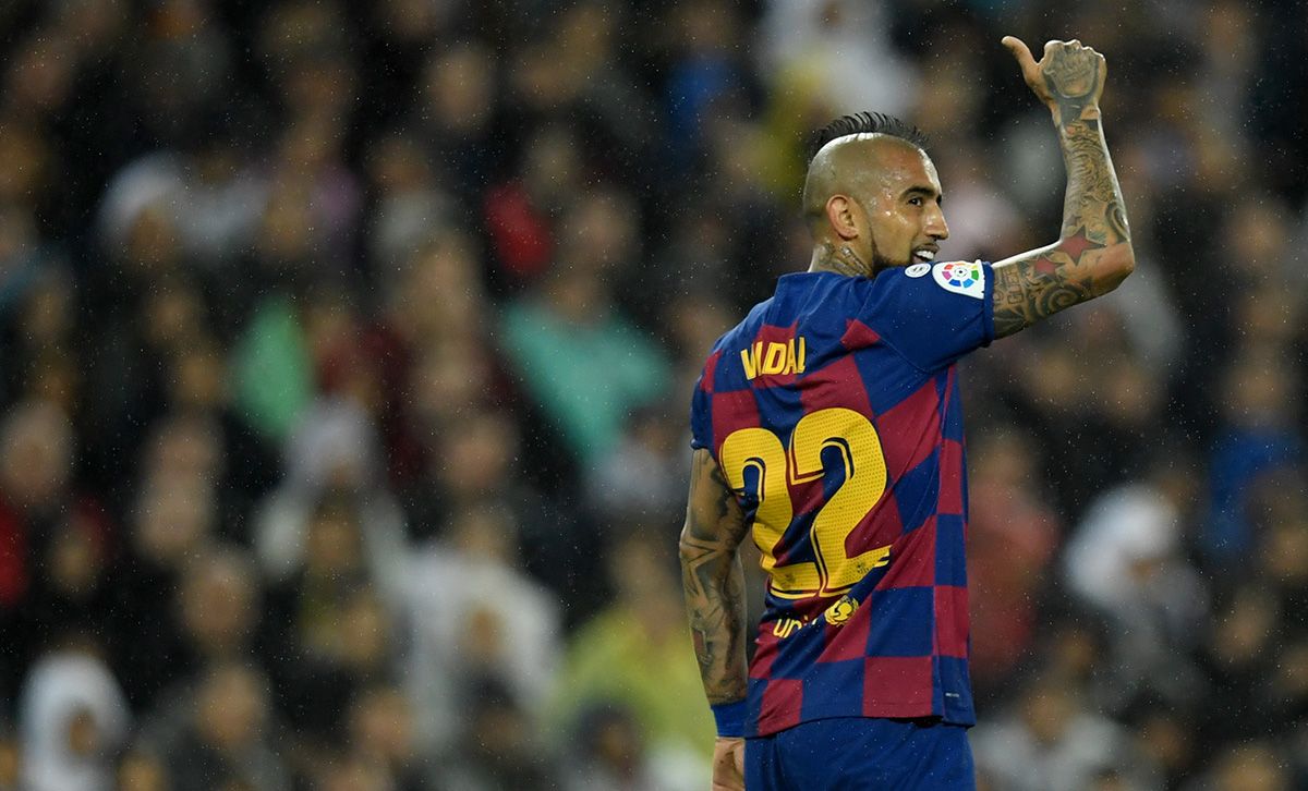
{"type": "Polygon", "coordinates": [[[955,362],[994,337],[990,264],[782,276],[722,336],[692,446],[768,575],[747,736],[831,716],[973,724],[955,362]]]}

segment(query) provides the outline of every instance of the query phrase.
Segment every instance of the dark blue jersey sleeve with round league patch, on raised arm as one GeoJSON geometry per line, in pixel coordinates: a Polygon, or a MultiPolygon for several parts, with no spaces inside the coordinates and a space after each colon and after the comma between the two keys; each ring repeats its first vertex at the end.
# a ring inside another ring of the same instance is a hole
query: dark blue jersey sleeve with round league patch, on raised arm
{"type": "Polygon", "coordinates": [[[994,340],[994,268],[940,261],[888,269],[870,282],[861,312],[910,363],[938,370],[994,340]]]}

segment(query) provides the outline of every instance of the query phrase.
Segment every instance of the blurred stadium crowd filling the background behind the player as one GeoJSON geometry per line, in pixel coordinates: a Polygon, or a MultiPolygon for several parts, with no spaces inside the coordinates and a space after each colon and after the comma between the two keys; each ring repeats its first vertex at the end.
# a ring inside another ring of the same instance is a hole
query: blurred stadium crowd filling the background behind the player
{"type": "Polygon", "coordinates": [[[1303,3],[7,0],[0,788],[705,788],[689,387],[833,115],[1053,241],[1005,33],[1139,264],[964,365],[982,787],[1308,787],[1303,3]]]}

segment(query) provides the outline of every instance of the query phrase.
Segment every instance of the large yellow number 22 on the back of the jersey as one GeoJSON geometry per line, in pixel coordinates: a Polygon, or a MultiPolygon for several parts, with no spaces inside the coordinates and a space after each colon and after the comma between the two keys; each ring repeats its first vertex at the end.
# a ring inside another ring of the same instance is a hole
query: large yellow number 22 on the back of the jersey
{"type": "Polygon", "coordinates": [[[886,455],[876,429],[863,414],[844,408],[810,412],[795,424],[789,448],[768,429],[740,429],[722,443],[719,458],[727,485],[736,492],[752,488],[749,493],[759,499],[753,541],[763,552],[763,570],[772,579],[774,595],[833,596],[889,562],[889,545],[853,557],[845,548],[849,535],[886,493],[886,455]],[[778,545],[794,519],[789,484],[823,477],[821,455],[827,448],[838,451],[845,480],[814,515],[808,540],[816,561],[778,566],[778,545]],[[747,472],[752,473],[749,481],[747,472]]]}

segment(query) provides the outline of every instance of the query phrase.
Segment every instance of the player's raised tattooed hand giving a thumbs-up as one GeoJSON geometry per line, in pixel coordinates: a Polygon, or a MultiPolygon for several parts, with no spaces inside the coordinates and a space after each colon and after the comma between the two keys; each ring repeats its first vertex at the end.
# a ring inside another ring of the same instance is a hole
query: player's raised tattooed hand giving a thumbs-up
{"type": "Polygon", "coordinates": [[[1099,106],[1104,90],[1108,64],[1104,56],[1076,39],[1049,42],[1045,55],[1036,63],[1027,44],[1014,35],[1003,37],[1003,46],[1022,67],[1022,76],[1041,102],[1061,120],[1071,122],[1082,116],[1086,107],[1099,106]]]}

